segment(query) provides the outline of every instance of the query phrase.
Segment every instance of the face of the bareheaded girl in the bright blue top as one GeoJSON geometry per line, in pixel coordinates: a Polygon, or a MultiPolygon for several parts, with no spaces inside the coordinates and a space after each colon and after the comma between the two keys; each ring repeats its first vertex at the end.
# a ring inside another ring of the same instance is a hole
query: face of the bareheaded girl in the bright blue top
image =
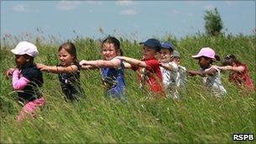
{"type": "Polygon", "coordinates": [[[115,49],[115,45],[112,43],[104,43],[102,47],[102,54],[104,60],[112,60],[115,56],[118,56],[119,51],[115,49]]]}

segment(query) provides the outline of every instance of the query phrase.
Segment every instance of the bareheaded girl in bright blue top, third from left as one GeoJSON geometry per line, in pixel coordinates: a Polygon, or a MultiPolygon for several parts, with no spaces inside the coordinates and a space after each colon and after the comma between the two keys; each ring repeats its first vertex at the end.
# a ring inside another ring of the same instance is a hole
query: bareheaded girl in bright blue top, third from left
{"type": "Polygon", "coordinates": [[[122,99],[125,93],[125,65],[116,56],[122,55],[120,41],[115,37],[109,36],[103,40],[101,52],[104,60],[80,61],[83,69],[100,68],[102,81],[106,86],[106,94],[113,98],[122,99]]]}

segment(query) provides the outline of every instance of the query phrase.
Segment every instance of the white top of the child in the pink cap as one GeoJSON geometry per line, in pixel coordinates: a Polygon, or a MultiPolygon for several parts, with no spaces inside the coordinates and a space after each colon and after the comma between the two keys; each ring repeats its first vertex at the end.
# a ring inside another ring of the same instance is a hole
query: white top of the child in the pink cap
{"type": "Polygon", "coordinates": [[[206,75],[206,77],[203,77],[203,83],[206,86],[206,88],[209,88],[212,93],[214,93],[217,97],[220,97],[221,95],[227,93],[226,89],[221,84],[221,72],[216,67],[210,67],[205,70],[201,71],[209,71],[211,68],[216,69],[216,73],[212,76],[206,75]]]}

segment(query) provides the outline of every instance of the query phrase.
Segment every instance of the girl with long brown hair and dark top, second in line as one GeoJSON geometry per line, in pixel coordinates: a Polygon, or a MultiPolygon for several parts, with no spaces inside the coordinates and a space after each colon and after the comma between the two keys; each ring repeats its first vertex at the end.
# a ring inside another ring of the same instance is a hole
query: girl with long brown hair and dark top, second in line
{"type": "Polygon", "coordinates": [[[77,100],[83,96],[83,88],[80,85],[80,66],[77,61],[77,51],[71,42],[62,44],[58,50],[58,66],[45,66],[38,63],[37,67],[44,72],[57,73],[61,83],[61,90],[66,100],[77,100]]]}

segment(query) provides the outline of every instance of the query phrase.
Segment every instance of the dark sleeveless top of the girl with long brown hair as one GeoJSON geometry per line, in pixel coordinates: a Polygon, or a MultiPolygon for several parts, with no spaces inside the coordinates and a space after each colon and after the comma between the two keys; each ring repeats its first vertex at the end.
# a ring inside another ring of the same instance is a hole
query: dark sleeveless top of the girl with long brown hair
{"type": "Polygon", "coordinates": [[[66,99],[75,100],[83,94],[83,88],[80,84],[80,65],[76,62],[78,71],[74,73],[59,73],[58,78],[61,83],[61,90],[66,99]]]}

